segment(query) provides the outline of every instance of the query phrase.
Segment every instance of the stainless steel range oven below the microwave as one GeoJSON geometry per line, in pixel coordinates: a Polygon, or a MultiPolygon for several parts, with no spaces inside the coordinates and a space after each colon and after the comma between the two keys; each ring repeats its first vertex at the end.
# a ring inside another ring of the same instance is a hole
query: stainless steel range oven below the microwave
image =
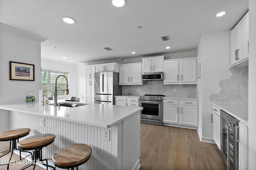
{"type": "Polygon", "coordinates": [[[164,95],[149,95],[139,97],[140,107],[140,123],[162,126],[163,104],[162,97],[164,95]]]}

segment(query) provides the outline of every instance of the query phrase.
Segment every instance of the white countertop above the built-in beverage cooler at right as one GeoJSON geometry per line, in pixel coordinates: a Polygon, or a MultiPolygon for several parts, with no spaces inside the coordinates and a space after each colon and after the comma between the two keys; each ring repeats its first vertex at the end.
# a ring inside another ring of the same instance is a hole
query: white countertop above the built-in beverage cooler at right
{"type": "Polygon", "coordinates": [[[212,103],[226,113],[232,115],[240,122],[248,124],[248,104],[233,104],[233,103],[212,103]]]}

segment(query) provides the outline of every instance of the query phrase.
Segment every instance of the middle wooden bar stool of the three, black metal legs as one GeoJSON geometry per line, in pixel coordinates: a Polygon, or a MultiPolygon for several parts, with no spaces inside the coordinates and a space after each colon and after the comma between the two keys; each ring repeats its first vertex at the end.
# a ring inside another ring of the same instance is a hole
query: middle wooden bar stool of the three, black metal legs
{"type": "Polygon", "coordinates": [[[36,161],[38,160],[41,162],[46,161],[46,164],[44,164],[44,162],[42,162],[42,164],[47,167],[46,168],[47,170],[48,170],[48,166],[55,169],[55,167],[48,165],[48,159],[42,159],[42,149],[44,147],[47,147],[51,143],[53,143],[54,139],[55,139],[54,134],[47,133],[47,134],[34,135],[20,141],[18,143],[18,149],[20,151],[32,150],[32,155],[31,155],[32,163],[23,167],[21,170],[24,170],[32,165],[35,168],[36,161]]]}

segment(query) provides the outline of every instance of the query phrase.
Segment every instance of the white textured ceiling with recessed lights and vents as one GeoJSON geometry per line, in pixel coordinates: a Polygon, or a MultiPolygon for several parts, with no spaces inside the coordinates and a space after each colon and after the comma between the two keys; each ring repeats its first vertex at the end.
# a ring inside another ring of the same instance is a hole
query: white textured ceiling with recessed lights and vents
{"type": "Polygon", "coordinates": [[[196,50],[202,34],[232,29],[248,11],[248,0],[126,0],[120,8],[111,2],[0,0],[0,22],[46,38],[42,57],[84,63],[196,50]],[[220,11],[226,15],[217,18],[220,11]]]}

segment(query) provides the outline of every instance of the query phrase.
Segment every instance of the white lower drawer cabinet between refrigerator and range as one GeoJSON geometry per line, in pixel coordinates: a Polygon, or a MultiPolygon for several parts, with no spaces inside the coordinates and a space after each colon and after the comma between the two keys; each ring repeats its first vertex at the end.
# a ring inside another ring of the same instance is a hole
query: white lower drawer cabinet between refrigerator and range
{"type": "Polygon", "coordinates": [[[115,105],[118,106],[139,106],[139,97],[115,96],[115,105]]]}

